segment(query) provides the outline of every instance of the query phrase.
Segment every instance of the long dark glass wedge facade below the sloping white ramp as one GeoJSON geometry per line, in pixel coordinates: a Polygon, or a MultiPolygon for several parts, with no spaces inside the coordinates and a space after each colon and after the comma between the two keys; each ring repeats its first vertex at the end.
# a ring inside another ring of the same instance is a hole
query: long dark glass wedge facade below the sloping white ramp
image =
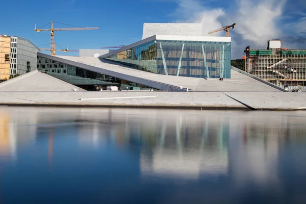
{"type": "Polygon", "coordinates": [[[126,90],[126,87],[128,87],[129,90],[153,89],[141,84],[121,80],[104,73],[97,73],[40,56],[37,57],[37,69],[52,77],[86,90],[106,90],[108,86],[117,86],[118,89],[122,88],[123,90],[126,90]]]}

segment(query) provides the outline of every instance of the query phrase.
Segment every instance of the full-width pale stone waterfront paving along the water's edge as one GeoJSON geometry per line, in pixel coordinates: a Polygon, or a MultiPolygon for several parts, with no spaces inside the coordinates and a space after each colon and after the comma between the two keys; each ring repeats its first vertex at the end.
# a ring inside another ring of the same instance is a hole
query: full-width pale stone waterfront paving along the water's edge
{"type": "Polygon", "coordinates": [[[0,105],[306,110],[306,93],[0,91],[0,105]]]}

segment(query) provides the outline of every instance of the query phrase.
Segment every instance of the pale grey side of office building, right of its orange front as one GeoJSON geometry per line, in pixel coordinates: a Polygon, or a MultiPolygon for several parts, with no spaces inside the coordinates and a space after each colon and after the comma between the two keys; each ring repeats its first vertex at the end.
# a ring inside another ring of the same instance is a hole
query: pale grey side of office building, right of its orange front
{"type": "Polygon", "coordinates": [[[37,53],[40,52],[32,42],[24,38],[17,38],[17,73],[27,73],[27,62],[30,62],[30,71],[37,69],[37,53]]]}

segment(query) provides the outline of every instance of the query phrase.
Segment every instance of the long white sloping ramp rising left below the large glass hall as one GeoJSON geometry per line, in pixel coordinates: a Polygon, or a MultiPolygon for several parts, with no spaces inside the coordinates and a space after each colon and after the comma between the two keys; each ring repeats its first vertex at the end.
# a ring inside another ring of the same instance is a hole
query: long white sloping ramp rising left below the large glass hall
{"type": "Polygon", "coordinates": [[[113,77],[143,84],[160,90],[180,91],[177,87],[183,86],[193,91],[212,92],[281,92],[276,88],[231,70],[232,79],[202,79],[190,77],[176,77],[173,75],[155,74],[139,69],[133,69],[119,63],[94,57],[50,56],[42,53],[41,57],[56,60],[72,66],[81,67],[95,72],[105,73],[113,77]]]}

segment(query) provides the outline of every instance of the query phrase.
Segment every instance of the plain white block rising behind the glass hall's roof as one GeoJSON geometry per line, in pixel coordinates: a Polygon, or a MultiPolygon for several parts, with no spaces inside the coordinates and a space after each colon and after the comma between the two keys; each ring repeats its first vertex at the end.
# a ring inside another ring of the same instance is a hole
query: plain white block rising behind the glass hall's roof
{"type": "Polygon", "coordinates": [[[144,23],[142,39],[154,35],[202,36],[201,23],[144,23]]]}

